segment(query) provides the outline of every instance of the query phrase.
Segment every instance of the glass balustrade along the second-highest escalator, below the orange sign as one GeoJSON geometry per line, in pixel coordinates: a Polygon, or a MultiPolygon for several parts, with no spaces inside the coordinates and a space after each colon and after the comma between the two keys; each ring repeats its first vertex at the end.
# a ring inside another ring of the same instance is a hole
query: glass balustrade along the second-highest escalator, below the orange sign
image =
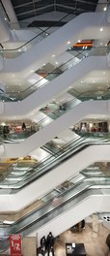
{"type": "MultiPolygon", "coordinates": [[[[21,101],[24,98],[28,97],[30,94],[34,93],[36,90],[43,87],[45,84],[47,84],[50,80],[54,80],[61,74],[63,74],[65,71],[69,70],[71,67],[78,64],[81,60],[83,60],[85,57],[89,56],[99,56],[99,55],[106,55],[109,53],[110,47],[105,48],[91,48],[91,49],[82,49],[80,52],[76,52],[74,50],[74,55],[69,56],[69,60],[63,63],[60,66],[57,66],[57,68],[52,68],[51,72],[48,72],[44,67],[50,66],[49,63],[46,64],[46,66],[42,66],[40,70],[36,71],[38,75],[40,75],[40,80],[33,83],[32,85],[28,85],[24,90],[21,90],[20,87],[17,91],[6,91],[1,92],[0,99],[1,101],[21,101]],[[46,70],[46,71],[45,71],[46,70]]],[[[69,49],[70,50],[70,49],[69,49]]]]}

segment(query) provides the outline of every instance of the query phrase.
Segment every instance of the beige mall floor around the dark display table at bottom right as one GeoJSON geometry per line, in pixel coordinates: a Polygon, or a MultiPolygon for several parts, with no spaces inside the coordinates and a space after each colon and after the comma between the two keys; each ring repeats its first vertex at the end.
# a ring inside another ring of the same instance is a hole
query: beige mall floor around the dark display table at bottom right
{"type": "Polygon", "coordinates": [[[66,256],[66,242],[84,243],[87,256],[110,256],[106,245],[107,235],[110,230],[99,223],[99,231],[93,233],[92,223],[86,223],[85,229],[80,233],[66,231],[55,242],[55,256],[66,256]]]}

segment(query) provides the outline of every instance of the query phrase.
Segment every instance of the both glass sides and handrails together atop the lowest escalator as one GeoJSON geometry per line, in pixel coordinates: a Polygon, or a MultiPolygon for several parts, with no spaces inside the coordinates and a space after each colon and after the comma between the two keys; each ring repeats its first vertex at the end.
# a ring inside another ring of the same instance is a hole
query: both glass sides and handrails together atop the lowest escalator
{"type": "Polygon", "coordinates": [[[28,234],[33,225],[34,230],[40,228],[41,225],[47,224],[47,222],[54,217],[58,217],[69,208],[73,208],[77,203],[85,200],[88,196],[93,194],[101,195],[100,189],[103,188],[103,186],[106,187],[106,185],[107,188],[110,186],[110,178],[84,178],[83,181],[81,180],[73,184],[70,188],[60,192],[59,195],[53,194],[53,197],[48,197],[48,199],[46,195],[46,201],[45,196],[42,197],[41,200],[43,203],[40,208],[35,209],[30,214],[15,221],[12,225],[0,225],[2,239],[6,242],[6,238],[8,240],[10,234],[19,232],[23,234],[26,232],[28,234]],[[92,189],[93,187],[94,189],[92,189]]]}

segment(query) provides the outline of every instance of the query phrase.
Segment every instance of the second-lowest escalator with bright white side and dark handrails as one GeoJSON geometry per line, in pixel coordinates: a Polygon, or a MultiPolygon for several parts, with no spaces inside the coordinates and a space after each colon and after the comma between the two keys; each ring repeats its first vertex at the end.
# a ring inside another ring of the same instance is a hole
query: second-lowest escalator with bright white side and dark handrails
{"type": "Polygon", "coordinates": [[[7,172],[7,177],[0,181],[0,211],[11,211],[10,204],[12,211],[29,206],[42,194],[47,193],[70,176],[102,159],[109,161],[109,158],[109,140],[83,137],[75,138],[73,142],[66,144],[59,152],[43,159],[33,168],[28,169],[22,166],[20,169],[19,165],[10,167],[10,170],[7,170],[9,172],[7,172]],[[21,201],[21,197],[24,200],[21,201]]]}

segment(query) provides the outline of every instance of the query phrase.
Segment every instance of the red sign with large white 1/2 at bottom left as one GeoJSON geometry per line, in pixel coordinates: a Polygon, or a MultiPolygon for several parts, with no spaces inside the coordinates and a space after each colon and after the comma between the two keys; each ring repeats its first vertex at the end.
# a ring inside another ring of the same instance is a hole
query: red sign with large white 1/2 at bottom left
{"type": "Polygon", "coordinates": [[[21,235],[10,235],[11,256],[21,256],[21,235]]]}

